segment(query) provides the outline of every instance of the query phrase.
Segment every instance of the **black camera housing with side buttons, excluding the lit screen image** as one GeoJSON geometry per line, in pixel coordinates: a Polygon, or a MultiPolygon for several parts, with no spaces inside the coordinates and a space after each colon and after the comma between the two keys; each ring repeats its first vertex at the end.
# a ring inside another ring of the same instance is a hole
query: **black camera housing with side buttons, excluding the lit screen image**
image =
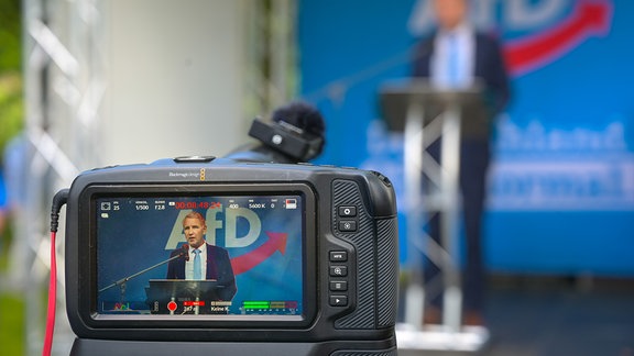
{"type": "Polygon", "coordinates": [[[74,355],[207,351],[237,355],[396,355],[398,256],[393,187],[379,173],[315,165],[238,163],[214,157],[86,171],[69,190],[66,303],[77,335],[74,355]],[[95,197],[155,192],[294,192],[306,197],[304,319],[200,316],[100,319],[95,310],[95,197]],[[340,208],[353,207],[353,229],[340,208]],[[330,253],[346,252],[349,288],[332,301],[330,253]]]}

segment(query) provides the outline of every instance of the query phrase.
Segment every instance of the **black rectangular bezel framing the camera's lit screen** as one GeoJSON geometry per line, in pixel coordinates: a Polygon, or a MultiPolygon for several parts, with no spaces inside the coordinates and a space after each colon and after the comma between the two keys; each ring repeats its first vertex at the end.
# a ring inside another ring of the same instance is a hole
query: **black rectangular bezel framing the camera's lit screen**
{"type": "Polygon", "coordinates": [[[319,305],[317,294],[317,198],[314,189],[304,182],[293,183],[161,183],[161,185],[91,185],[79,194],[78,267],[87,274],[78,274],[78,313],[90,329],[132,327],[238,327],[275,329],[305,327],[313,323],[319,305]],[[205,196],[299,196],[303,199],[303,310],[298,315],[141,315],[100,314],[97,312],[97,200],[101,198],[156,198],[205,196]],[[88,236],[84,238],[81,236],[88,236]],[[84,276],[84,277],[83,277],[84,276]]]}

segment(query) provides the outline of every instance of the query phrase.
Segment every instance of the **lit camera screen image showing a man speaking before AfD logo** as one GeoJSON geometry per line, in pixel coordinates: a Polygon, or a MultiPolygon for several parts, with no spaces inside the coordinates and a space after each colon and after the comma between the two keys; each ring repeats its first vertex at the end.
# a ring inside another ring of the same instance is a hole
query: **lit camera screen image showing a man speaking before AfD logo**
{"type": "Polygon", "coordinates": [[[98,316],[305,316],[303,193],[92,201],[98,316]]]}

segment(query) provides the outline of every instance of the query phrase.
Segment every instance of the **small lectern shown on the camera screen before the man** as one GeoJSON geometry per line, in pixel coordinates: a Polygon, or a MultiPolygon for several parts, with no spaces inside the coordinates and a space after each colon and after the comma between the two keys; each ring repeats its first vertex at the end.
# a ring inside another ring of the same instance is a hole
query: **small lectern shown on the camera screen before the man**
{"type": "Polygon", "coordinates": [[[150,279],[145,288],[152,314],[226,314],[221,300],[225,288],[216,280],[150,279]]]}

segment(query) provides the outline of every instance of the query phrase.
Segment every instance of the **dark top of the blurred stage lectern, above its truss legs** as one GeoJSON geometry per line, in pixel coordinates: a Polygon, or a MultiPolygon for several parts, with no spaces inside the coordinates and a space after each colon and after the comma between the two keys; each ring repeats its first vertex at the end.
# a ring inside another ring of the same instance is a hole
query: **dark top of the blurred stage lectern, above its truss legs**
{"type": "Polygon", "coordinates": [[[412,79],[384,85],[380,90],[380,107],[390,131],[403,132],[413,104],[419,104],[424,124],[448,110],[458,110],[463,137],[488,135],[489,107],[479,81],[464,89],[435,87],[425,79],[412,79]]]}

